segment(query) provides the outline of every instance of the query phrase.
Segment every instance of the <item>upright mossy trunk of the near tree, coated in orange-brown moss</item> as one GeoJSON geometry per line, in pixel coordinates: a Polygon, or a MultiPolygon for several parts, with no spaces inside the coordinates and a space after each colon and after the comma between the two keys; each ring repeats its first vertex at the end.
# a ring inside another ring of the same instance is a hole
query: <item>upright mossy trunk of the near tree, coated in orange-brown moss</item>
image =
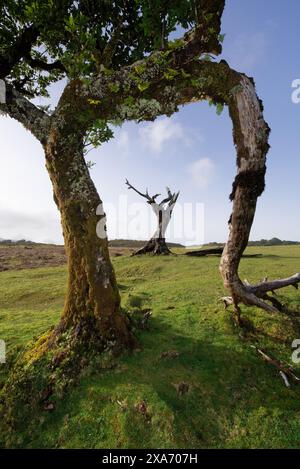
{"type": "MultiPolygon", "coordinates": [[[[131,347],[134,341],[120,312],[106,232],[101,238],[96,233],[96,212],[102,202],[83,157],[82,137],[52,128],[45,145],[68,258],[68,289],[59,330],[72,329],[86,343],[131,347]]],[[[105,222],[103,217],[100,222],[105,222]]]]}

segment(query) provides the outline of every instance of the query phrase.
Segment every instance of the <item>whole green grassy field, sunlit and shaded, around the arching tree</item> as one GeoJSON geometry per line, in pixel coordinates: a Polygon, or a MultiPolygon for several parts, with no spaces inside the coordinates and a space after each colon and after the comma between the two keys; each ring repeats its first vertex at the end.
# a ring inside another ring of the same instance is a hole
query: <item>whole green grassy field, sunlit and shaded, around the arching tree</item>
{"type": "MultiPolygon", "coordinates": [[[[300,246],[253,247],[248,253],[263,255],[242,260],[241,277],[250,282],[300,270],[300,246]]],[[[219,258],[122,256],[113,262],[123,306],[153,312],[140,349],[83,378],[53,412],[41,414],[36,432],[20,435],[21,445],[300,447],[300,386],[286,388],[251,347],[291,362],[291,343],[300,339],[298,291],[289,287],[279,295],[294,314],[243,307],[251,325],[245,333],[219,301],[219,258]],[[179,355],[161,356],[169,351],[179,355]]],[[[58,321],[65,283],[65,267],[0,273],[0,338],[8,351],[0,385],[22,347],[58,321]]]]}

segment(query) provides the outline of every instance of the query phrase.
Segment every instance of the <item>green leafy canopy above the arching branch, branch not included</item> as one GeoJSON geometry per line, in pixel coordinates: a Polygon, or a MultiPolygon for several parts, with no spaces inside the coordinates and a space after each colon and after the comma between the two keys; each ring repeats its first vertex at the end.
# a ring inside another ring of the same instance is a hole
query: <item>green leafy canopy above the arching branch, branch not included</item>
{"type": "Polygon", "coordinates": [[[91,78],[183,46],[184,40],[170,43],[172,33],[200,24],[197,42],[211,52],[223,7],[219,0],[2,1],[0,78],[29,96],[45,96],[64,76],[91,78]]]}

